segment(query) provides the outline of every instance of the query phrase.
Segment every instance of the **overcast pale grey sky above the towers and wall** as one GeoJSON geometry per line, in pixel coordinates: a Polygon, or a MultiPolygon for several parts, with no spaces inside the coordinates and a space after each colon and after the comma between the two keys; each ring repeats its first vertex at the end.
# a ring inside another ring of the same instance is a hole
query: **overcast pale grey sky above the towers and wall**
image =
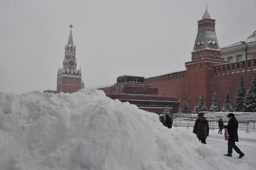
{"type": "Polygon", "coordinates": [[[2,0],[0,91],[56,90],[70,24],[86,88],[184,70],[206,4],[220,46],[256,30],[255,0],[2,0]]]}

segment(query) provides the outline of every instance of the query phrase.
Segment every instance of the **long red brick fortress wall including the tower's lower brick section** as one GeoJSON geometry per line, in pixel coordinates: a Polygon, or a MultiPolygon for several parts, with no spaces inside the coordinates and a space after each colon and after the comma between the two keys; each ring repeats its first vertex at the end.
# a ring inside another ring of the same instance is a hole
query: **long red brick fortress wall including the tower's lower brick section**
{"type": "Polygon", "coordinates": [[[186,71],[149,77],[145,79],[145,82],[152,87],[157,87],[160,95],[177,97],[180,100],[180,107],[182,107],[183,101],[187,100],[191,112],[202,95],[205,96],[209,109],[212,93],[215,92],[217,94],[217,106],[220,110],[226,91],[228,91],[229,99],[234,106],[241,74],[243,73],[245,87],[248,90],[256,70],[256,59],[218,65],[213,65],[213,60],[211,62],[204,60],[191,62],[186,62],[186,71]],[[188,66],[187,64],[191,62],[196,63],[188,66]]]}

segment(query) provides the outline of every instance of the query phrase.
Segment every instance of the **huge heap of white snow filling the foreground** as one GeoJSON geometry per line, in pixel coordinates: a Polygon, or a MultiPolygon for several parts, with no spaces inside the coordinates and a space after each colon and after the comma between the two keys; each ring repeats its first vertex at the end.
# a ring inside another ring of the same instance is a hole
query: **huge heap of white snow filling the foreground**
{"type": "Polygon", "coordinates": [[[6,170],[240,169],[190,130],[96,90],[0,93],[0,153],[6,170]]]}

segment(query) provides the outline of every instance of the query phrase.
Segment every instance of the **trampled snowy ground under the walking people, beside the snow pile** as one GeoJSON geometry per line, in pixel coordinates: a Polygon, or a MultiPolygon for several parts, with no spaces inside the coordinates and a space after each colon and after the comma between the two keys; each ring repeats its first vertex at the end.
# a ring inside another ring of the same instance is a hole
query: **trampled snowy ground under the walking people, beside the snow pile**
{"type": "MultiPolygon", "coordinates": [[[[176,127],[174,127],[176,128],[176,127]]],[[[178,127],[186,128],[186,127],[178,127]]],[[[188,129],[192,133],[192,128],[188,129]]],[[[242,165],[248,169],[256,169],[256,132],[245,133],[245,130],[239,130],[239,142],[236,142],[237,147],[245,153],[245,157],[238,159],[239,154],[233,150],[233,157],[226,157],[223,154],[227,153],[228,142],[224,140],[224,135],[218,134],[218,130],[210,130],[210,135],[207,138],[207,145],[212,145],[216,150],[219,151],[220,156],[223,159],[229,160],[229,162],[235,163],[236,165],[242,165]]],[[[199,141],[198,141],[199,142],[199,141]]]]}

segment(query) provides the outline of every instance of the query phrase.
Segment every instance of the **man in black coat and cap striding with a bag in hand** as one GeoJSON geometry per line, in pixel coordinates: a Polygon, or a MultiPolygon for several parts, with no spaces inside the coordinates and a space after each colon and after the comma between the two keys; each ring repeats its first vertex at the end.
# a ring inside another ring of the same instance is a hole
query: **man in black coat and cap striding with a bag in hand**
{"type": "Polygon", "coordinates": [[[237,129],[238,129],[238,122],[236,120],[236,117],[234,114],[228,114],[228,126],[224,126],[228,130],[229,139],[228,139],[228,154],[224,154],[225,156],[232,156],[232,150],[234,150],[239,154],[239,158],[242,158],[245,156],[242,151],[237,147],[235,142],[238,142],[238,135],[237,135],[237,129]]]}

